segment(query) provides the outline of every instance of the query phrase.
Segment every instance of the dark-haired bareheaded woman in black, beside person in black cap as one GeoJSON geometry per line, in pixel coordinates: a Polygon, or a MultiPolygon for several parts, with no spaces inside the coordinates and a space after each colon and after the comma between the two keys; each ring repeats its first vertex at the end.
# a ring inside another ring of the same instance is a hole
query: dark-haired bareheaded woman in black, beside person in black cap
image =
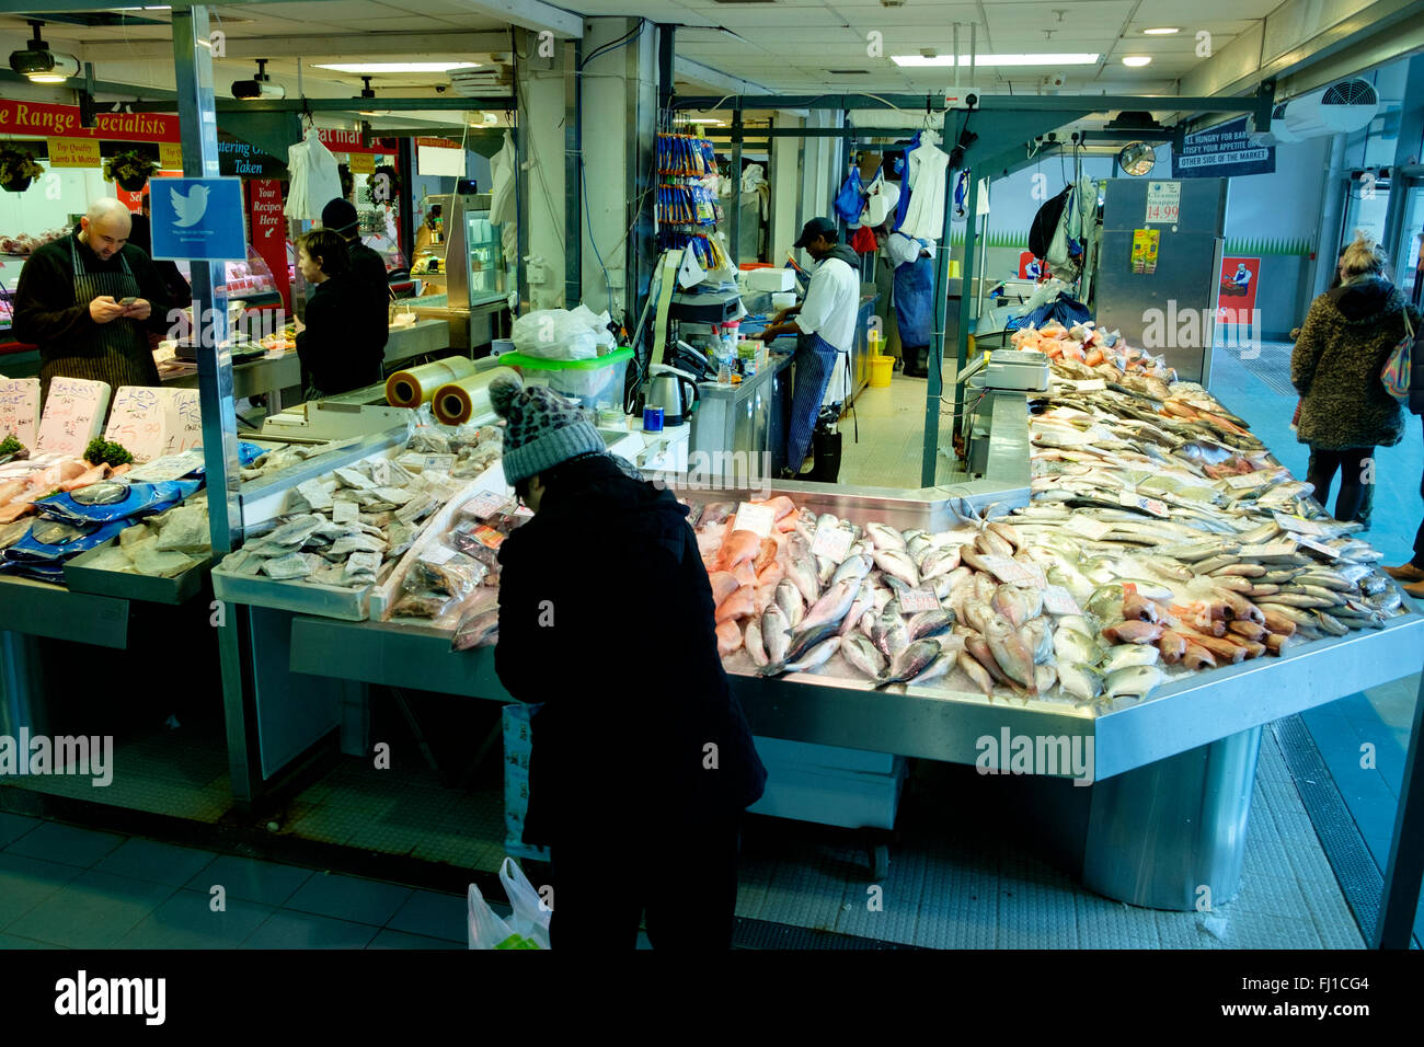
{"type": "Polygon", "coordinates": [[[380,382],[382,358],[365,336],[370,311],[352,274],[346,241],[330,229],[312,229],[296,242],[302,278],[312,285],[306,319],[298,323],[296,355],[306,373],[306,399],[346,393],[380,382]]]}

